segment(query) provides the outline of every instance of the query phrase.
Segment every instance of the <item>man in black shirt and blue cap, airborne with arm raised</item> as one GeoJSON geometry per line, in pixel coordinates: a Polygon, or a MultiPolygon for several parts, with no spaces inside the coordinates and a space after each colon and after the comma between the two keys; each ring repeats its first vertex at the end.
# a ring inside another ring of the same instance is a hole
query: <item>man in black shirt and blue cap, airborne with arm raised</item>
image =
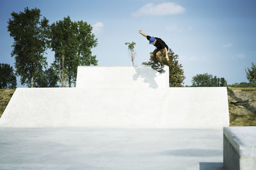
{"type": "Polygon", "coordinates": [[[147,34],[141,32],[141,29],[139,32],[141,35],[145,36],[148,39],[149,44],[156,46],[156,50],[150,53],[150,58],[154,61],[152,68],[157,70],[163,69],[163,57],[166,57],[166,60],[169,60],[168,46],[166,45],[166,43],[164,43],[164,41],[161,38],[148,36],[147,34]]]}

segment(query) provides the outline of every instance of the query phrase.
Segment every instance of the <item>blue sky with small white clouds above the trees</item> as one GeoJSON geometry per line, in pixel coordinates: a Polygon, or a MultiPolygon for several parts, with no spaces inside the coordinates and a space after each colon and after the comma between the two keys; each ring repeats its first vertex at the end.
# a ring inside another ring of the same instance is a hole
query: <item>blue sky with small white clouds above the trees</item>
{"type": "MultiPolygon", "coordinates": [[[[228,84],[248,82],[244,69],[256,62],[254,0],[33,1],[0,0],[0,63],[14,67],[13,39],[7,31],[12,11],[39,8],[50,24],[63,17],[93,25],[99,66],[132,66],[125,42],[136,43],[136,66],[148,61],[154,46],[139,34],[163,39],[179,55],[185,85],[196,74],[224,77],[228,84]]],[[[49,51],[47,60],[54,54],[49,51]]],[[[21,87],[19,78],[18,87],[21,87]]]]}

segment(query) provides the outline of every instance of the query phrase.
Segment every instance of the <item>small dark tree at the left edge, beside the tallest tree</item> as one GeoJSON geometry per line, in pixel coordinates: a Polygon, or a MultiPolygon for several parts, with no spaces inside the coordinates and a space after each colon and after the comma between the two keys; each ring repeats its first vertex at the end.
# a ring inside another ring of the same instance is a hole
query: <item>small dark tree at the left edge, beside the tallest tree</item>
{"type": "Polygon", "coordinates": [[[17,86],[16,76],[10,64],[0,64],[0,89],[15,89],[17,86]]]}

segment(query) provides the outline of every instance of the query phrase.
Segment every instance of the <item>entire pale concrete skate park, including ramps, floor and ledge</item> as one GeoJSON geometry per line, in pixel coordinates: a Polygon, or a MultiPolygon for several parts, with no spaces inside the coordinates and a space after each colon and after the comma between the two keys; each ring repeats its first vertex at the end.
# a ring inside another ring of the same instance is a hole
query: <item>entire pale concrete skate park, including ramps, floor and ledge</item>
{"type": "Polygon", "coordinates": [[[0,169],[255,169],[255,127],[228,126],[226,87],[169,87],[168,71],[147,66],[79,66],[75,88],[15,90],[0,169]]]}

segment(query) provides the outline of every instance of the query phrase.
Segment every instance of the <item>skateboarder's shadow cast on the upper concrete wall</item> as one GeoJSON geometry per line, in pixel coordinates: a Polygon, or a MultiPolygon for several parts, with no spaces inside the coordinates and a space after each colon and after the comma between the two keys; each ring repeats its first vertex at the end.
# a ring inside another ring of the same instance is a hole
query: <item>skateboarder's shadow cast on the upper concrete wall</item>
{"type": "Polygon", "coordinates": [[[145,69],[141,69],[141,67],[133,67],[136,71],[136,74],[133,75],[133,80],[136,81],[138,78],[143,78],[145,83],[148,83],[148,87],[153,89],[157,89],[158,85],[156,83],[156,73],[157,71],[147,71],[145,69]]]}

